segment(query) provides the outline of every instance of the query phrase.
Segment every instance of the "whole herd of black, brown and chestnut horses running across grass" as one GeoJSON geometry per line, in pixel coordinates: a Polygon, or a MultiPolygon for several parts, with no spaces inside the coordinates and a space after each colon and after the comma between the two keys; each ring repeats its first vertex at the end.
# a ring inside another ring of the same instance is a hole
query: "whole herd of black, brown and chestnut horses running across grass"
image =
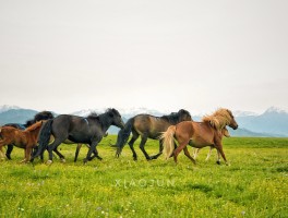
{"type": "Polygon", "coordinates": [[[45,150],[48,150],[49,154],[47,164],[52,162],[53,153],[64,161],[64,156],[58,150],[58,146],[64,143],[77,144],[74,161],[77,159],[82,144],[88,146],[84,162],[91,161],[95,157],[101,159],[97,152],[97,145],[107,135],[107,130],[111,125],[120,129],[116,145],[112,145],[117,147],[117,157],[121,155],[128,143],[133,159],[136,160],[137,155],[133,145],[141,136],[140,149],[147,160],[157,159],[164,154],[166,159],[173,157],[177,162],[178,155],[183,150],[184,155],[194,164],[199,149],[206,146],[209,146],[211,150],[217,149],[217,164],[220,161],[220,156],[227,164],[221,144],[223,136],[230,136],[226,126],[233,130],[238,128],[232,112],[225,108],[203,117],[201,122],[193,121],[190,112],[184,109],[163,117],[137,114],[125,123],[119,111],[113,108],[107,109],[101,114],[92,113],[88,117],[71,114],[55,117],[50,111],[43,111],[26,124],[8,123],[0,128],[0,158],[11,159],[13,146],[16,146],[24,148],[23,162],[33,162],[36,157],[44,159],[45,150]],[[131,133],[132,137],[129,141],[131,133]],[[147,154],[145,150],[147,138],[159,141],[158,154],[154,156],[147,154]],[[7,153],[4,154],[2,147],[5,145],[7,153]],[[197,148],[193,157],[188,150],[188,145],[197,148]]]}

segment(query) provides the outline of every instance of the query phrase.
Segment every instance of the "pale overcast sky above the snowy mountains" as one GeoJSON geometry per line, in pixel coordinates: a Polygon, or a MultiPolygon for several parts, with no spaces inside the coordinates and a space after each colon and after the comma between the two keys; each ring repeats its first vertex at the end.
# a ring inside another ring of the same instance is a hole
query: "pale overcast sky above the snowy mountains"
{"type": "Polygon", "coordinates": [[[0,0],[0,105],[288,111],[287,0],[0,0]]]}

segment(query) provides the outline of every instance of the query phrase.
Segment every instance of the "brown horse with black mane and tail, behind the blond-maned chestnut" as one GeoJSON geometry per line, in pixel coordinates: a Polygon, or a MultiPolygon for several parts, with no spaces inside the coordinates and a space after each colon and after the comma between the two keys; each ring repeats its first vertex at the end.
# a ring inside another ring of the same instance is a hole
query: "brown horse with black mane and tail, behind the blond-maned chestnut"
{"type": "Polygon", "coordinates": [[[178,112],[172,112],[168,116],[154,117],[151,114],[137,114],[130,118],[124,128],[119,131],[117,137],[117,157],[120,156],[123,146],[127,144],[130,133],[132,132],[132,138],[128,143],[132,153],[133,159],[137,159],[137,155],[134,150],[133,144],[141,135],[140,149],[143,152],[147,160],[157,159],[163,153],[163,142],[159,141],[159,153],[154,156],[149,156],[144,146],[147,138],[158,140],[161,132],[165,132],[170,125],[177,124],[182,121],[191,121],[192,118],[187,110],[179,110],[178,112]]]}

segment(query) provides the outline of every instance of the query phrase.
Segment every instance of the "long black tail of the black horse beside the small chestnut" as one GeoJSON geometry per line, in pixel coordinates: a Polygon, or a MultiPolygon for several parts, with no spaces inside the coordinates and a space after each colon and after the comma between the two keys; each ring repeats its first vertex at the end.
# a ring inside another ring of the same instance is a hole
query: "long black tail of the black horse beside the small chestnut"
{"type": "Polygon", "coordinates": [[[53,120],[50,119],[43,124],[39,136],[38,136],[39,147],[37,149],[37,153],[33,156],[33,159],[35,157],[38,157],[39,155],[43,156],[45,149],[47,148],[49,141],[50,141],[52,123],[53,123],[53,120]]]}

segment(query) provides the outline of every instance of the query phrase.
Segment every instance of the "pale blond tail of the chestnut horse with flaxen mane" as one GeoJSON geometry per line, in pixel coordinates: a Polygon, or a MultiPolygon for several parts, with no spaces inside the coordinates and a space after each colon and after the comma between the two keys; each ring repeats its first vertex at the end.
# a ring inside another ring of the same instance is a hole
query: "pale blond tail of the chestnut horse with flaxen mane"
{"type": "Polygon", "coordinates": [[[164,146],[164,156],[166,159],[168,159],[173,150],[175,150],[175,132],[176,132],[176,125],[170,125],[166,132],[164,132],[160,136],[160,140],[163,140],[163,146],[164,146]]]}

